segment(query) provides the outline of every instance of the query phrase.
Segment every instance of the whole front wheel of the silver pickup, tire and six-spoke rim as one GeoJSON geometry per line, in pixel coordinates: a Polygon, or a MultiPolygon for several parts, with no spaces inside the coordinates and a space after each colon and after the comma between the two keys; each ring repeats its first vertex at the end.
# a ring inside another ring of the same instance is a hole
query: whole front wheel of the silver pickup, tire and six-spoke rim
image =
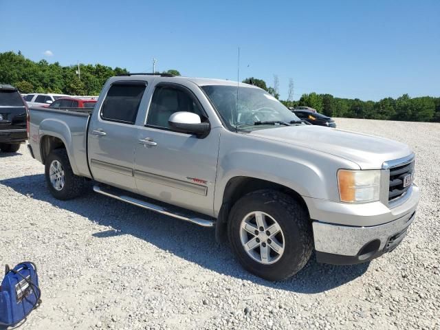
{"type": "Polygon", "coordinates": [[[230,212],[228,236],[243,267],[269,281],[299,272],[313,250],[309,217],[291,197],[259,190],[237,201],[230,212]]]}

